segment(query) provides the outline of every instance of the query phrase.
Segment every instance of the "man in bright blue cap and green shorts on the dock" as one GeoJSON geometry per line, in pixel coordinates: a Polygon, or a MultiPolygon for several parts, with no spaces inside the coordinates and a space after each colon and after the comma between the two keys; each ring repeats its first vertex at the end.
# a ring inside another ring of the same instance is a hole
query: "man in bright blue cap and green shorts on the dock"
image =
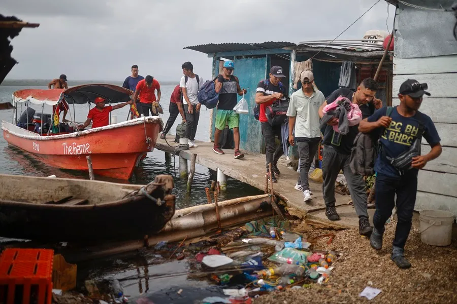
{"type": "Polygon", "coordinates": [[[246,94],[245,89],[240,88],[238,77],[232,75],[234,63],[232,60],[224,62],[223,74],[219,75],[214,81],[216,84],[216,93],[219,93],[219,103],[216,112],[216,131],[214,132],[213,151],[217,154],[224,154],[219,145],[219,136],[225,126],[233,129],[233,139],[235,141],[234,158],[241,159],[244,154],[240,152],[240,115],[235,113],[233,108],[237,105],[237,94],[246,94]]]}

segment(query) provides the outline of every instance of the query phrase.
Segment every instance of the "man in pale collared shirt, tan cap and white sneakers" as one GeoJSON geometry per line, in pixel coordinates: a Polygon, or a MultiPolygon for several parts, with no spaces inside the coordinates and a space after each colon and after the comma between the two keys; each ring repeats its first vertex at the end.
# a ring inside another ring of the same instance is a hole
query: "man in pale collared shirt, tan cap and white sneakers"
{"type": "Polygon", "coordinates": [[[297,144],[300,157],[300,177],[296,189],[303,191],[303,200],[311,201],[308,172],[320,142],[319,107],[325,97],[319,90],[314,89],[314,75],[312,71],[303,71],[300,74],[302,89],[294,92],[290,97],[287,116],[289,117],[289,143],[297,144]],[[295,127],[295,137],[292,135],[295,127]]]}

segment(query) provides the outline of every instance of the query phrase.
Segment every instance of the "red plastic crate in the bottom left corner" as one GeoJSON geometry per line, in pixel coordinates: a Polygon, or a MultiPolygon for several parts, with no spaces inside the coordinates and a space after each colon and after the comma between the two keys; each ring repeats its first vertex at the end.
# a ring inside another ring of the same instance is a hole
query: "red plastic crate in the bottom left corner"
{"type": "Polygon", "coordinates": [[[31,288],[36,286],[38,304],[50,304],[53,258],[54,251],[49,249],[6,249],[0,256],[0,303],[13,304],[16,287],[23,286],[22,303],[28,304],[31,288]]]}

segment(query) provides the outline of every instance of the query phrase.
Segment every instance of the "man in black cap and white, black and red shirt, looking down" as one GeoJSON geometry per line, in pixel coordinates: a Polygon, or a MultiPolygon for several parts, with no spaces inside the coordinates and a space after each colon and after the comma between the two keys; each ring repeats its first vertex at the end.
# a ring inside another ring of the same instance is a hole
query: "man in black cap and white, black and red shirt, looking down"
{"type": "Polygon", "coordinates": [[[284,152],[281,141],[281,126],[270,125],[266,116],[266,109],[267,106],[272,105],[278,100],[286,100],[284,97],[284,86],[281,83],[281,79],[284,77],[285,75],[282,72],[281,66],[272,66],[270,69],[270,78],[260,81],[257,84],[257,90],[255,92],[255,103],[258,104],[260,108],[258,120],[260,124],[262,124],[262,133],[267,147],[267,175],[272,182],[277,182],[275,174],[281,174],[277,167],[277,162],[284,152]],[[278,136],[279,141],[281,142],[278,147],[276,147],[275,144],[275,136],[278,136]],[[269,170],[270,163],[273,172],[270,172],[269,170]]]}

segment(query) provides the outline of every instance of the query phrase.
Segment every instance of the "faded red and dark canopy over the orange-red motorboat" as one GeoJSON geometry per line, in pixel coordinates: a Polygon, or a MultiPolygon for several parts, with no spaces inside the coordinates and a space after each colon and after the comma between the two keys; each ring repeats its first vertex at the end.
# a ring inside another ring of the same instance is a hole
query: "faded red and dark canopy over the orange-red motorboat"
{"type": "Polygon", "coordinates": [[[35,104],[55,105],[61,97],[64,97],[67,103],[83,104],[93,103],[96,97],[102,97],[107,100],[107,103],[118,103],[129,101],[132,94],[132,91],[115,85],[90,84],[69,89],[19,90],[13,93],[13,101],[25,102],[28,100],[35,104]]]}

